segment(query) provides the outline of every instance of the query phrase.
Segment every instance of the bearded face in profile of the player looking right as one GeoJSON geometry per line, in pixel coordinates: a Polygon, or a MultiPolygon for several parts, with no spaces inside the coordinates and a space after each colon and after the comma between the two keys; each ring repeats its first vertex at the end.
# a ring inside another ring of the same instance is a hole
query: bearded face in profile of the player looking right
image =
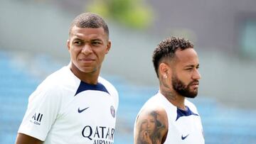
{"type": "Polygon", "coordinates": [[[176,68],[171,76],[172,87],[178,94],[194,98],[198,94],[199,79],[201,79],[198,71],[198,55],[193,48],[188,48],[178,50],[176,59],[176,68]]]}

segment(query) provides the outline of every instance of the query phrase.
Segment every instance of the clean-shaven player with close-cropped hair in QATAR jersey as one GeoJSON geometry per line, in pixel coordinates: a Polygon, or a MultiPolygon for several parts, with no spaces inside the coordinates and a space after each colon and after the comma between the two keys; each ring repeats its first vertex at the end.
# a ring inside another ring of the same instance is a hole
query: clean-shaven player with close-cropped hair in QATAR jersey
{"type": "Polygon", "coordinates": [[[118,93],[99,76],[111,47],[107,23],[95,13],[80,14],[67,46],[70,64],[31,94],[16,144],[114,143],[118,93]]]}

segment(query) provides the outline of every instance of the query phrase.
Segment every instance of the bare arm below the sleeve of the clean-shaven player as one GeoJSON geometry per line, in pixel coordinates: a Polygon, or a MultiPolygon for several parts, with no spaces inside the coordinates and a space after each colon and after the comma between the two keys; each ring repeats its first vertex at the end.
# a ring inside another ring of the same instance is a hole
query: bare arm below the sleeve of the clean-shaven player
{"type": "Polygon", "coordinates": [[[16,144],[42,144],[43,141],[33,138],[23,133],[18,133],[16,138],[16,144]]]}

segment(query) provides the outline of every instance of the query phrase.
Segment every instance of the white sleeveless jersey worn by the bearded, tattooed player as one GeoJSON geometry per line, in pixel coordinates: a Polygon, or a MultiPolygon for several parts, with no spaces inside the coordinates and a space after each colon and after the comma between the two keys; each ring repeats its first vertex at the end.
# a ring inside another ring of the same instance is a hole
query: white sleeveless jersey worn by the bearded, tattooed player
{"type": "MultiPolygon", "coordinates": [[[[203,144],[205,143],[203,138],[203,127],[196,106],[188,100],[185,100],[185,105],[187,108],[186,111],[178,109],[171,104],[164,95],[157,93],[146,101],[146,104],[142,106],[141,111],[149,106],[165,109],[169,128],[164,143],[203,144]]],[[[141,111],[139,111],[139,113],[141,113],[141,111]]]]}

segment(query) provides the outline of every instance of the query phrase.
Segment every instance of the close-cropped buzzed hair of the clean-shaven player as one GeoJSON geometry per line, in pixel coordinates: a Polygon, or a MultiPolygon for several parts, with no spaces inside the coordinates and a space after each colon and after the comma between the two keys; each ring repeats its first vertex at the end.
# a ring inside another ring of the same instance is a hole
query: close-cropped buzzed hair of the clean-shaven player
{"type": "Polygon", "coordinates": [[[107,23],[96,13],[81,13],[78,15],[70,25],[69,35],[74,26],[77,26],[78,28],[103,28],[107,34],[107,38],[109,38],[110,35],[107,23]]]}

